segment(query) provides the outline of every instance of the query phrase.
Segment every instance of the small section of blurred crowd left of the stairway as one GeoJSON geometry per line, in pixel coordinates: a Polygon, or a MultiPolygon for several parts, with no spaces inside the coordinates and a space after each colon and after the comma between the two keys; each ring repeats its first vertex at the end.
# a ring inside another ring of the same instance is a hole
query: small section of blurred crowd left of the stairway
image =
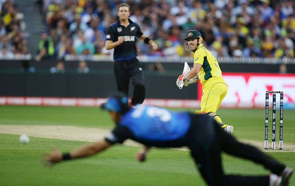
{"type": "Polygon", "coordinates": [[[28,54],[24,14],[18,12],[12,0],[0,0],[0,56],[13,58],[28,54]]]}

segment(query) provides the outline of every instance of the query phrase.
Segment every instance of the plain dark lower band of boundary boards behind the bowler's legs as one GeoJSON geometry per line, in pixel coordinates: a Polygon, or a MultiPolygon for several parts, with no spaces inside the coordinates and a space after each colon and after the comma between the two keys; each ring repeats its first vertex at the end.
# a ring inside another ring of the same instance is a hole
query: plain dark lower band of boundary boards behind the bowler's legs
{"type": "MultiPolygon", "coordinates": [[[[197,84],[180,90],[176,78],[146,75],[146,97],[196,99],[197,84]]],[[[106,97],[116,90],[111,74],[1,73],[0,79],[1,96],[106,97]]]]}

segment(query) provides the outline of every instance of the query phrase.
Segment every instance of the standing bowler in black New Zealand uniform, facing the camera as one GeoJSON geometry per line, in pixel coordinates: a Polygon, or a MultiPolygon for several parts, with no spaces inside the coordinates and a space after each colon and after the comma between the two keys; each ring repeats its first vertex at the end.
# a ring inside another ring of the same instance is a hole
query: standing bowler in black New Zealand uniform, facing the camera
{"type": "Polygon", "coordinates": [[[128,95],[129,81],[132,79],[134,92],[130,107],[140,104],[145,99],[145,79],[137,57],[136,38],[157,50],[158,46],[148,36],[144,35],[137,23],[129,19],[130,6],[120,4],[117,15],[119,20],[110,25],[106,34],[107,50],[114,48],[114,74],[117,89],[128,95]]]}

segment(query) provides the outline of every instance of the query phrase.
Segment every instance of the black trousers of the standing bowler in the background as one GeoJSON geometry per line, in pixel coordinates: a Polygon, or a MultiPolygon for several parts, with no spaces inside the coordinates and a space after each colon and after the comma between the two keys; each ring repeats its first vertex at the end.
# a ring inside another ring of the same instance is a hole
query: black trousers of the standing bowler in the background
{"type": "Polygon", "coordinates": [[[129,81],[134,86],[132,105],[140,104],[145,99],[145,79],[142,73],[140,62],[137,58],[128,61],[115,61],[114,74],[117,82],[117,89],[125,92],[128,96],[129,81]]]}

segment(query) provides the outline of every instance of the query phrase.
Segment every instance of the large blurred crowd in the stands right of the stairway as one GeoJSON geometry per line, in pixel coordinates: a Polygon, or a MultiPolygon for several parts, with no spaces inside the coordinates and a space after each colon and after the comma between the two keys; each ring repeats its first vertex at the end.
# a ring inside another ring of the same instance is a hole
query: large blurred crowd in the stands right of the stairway
{"type": "MultiPolygon", "coordinates": [[[[185,33],[199,30],[216,57],[294,57],[295,4],[292,0],[43,0],[43,16],[62,59],[72,55],[112,55],[105,33],[117,19],[117,6],[131,6],[130,19],[153,39],[153,51],[137,42],[139,55],[191,56],[185,33]]],[[[12,6],[9,6],[12,7],[12,6]]],[[[14,9],[15,10],[15,9],[14,9]]],[[[13,27],[13,26],[12,26],[13,27]]],[[[14,37],[15,38],[15,37],[14,37]]],[[[20,39],[20,37],[18,37],[20,39]]]]}

